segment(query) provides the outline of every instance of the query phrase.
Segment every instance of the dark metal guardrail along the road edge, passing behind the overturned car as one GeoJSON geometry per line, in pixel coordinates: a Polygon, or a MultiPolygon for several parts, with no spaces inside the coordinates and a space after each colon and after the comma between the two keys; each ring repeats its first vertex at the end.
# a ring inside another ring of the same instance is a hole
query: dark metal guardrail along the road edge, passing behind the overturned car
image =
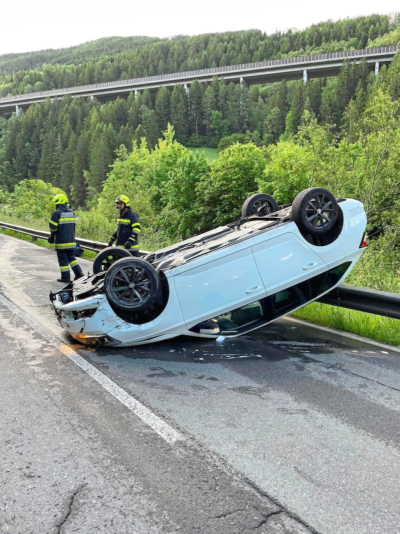
{"type": "MultiPolygon", "coordinates": [[[[33,228],[25,228],[15,224],[3,223],[0,221],[0,229],[12,230],[26,235],[30,235],[36,239],[45,239],[50,235],[50,232],[42,230],[35,230],[33,228]]],[[[102,241],[90,241],[89,239],[75,238],[76,242],[86,250],[92,252],[100,252],[108,245],[102,241]]],[[[141,250],[142,254],[148,254],[147,250],[141,250]]],[[[354,286],[340,286],[327,293],[317,302],[323,304],[330,304],[340,308],[348,308],[350,310],[364,311],[366,313],[374,313],[383,317],[390,317],[392,319],[400,319],[400,295],[398,293],[387,293],[385,291],[374,291],[373,289],[364,289],[354,286]]]]}

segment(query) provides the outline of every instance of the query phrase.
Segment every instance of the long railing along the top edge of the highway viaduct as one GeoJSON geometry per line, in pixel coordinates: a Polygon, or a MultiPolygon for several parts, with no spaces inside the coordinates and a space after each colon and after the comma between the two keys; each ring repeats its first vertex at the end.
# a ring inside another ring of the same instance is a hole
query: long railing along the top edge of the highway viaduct
{"type": "Polygon", "coordinates": [[[188,70],[171,74],[158,74],[156,76],[145,76],[140,78],[131,78],[130,80],[117,80],[114,82],[93,83],[89,85],[78,85],[76,87],[67,87],[63,89],[50,89],[47,91],[38,91],[25,93],[23,95],[11,95],[0,97],[0,104],[14,101],[29,101],[46,97],[56,97],[59,95],[71,95],[83,92],[96,92],[102,89],[116,89],[121,87],[130,87],[134,85],[145,85],[164,81],[179,81],[193,78],[202,78],[205,76],[218,76],[223,74],[233,74],[244,72],[246,70],[268,69],[285,65],[303,64],[307,65],[316,61],[327,61],[337,59],[359,59],[361,57],[393,56],[400,48],[399,45],[375,46],[374,48],[363,48],[361,50],[342,50],[340,52],[326,52],[322,54],[311,54],[310,56],[293,56],[282,59],[270,59],[267,61],[255,61],[252,63],[243,63],[239,65],[227,65],[223,67],[211,67],[207,69],[188,70]]]}

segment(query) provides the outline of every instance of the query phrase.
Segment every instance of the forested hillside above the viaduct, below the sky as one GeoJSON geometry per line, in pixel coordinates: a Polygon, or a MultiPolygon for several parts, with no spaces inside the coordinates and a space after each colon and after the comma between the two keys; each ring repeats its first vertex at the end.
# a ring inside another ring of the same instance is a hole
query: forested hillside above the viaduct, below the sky
{"type": "Polygon", "coordinates": [[[163,40],[110,37],[62,50],[6,54],[0,56],[0,96],[291,55],[361,49],[377,38],[393,34],[398,24],[398,14],[371,15],[273,35],[254,29],[163,40]]]}

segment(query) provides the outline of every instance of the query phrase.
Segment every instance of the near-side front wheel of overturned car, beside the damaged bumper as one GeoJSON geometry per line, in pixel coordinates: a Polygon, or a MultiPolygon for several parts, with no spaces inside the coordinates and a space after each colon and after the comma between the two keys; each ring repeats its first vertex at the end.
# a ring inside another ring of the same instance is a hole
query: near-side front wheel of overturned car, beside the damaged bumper
{"type": "Polygon", "coordinates": [[[159,287],[158,272],[140,258],[121,258],[110,266],[104,278],[104,291],[120,310],[146,310],[154,303],[159,287]]]}

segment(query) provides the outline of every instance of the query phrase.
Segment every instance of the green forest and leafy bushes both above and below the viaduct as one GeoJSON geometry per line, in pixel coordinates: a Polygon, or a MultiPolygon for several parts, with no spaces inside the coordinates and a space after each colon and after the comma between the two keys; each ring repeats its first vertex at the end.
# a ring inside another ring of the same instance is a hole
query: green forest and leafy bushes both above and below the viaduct
{"type": "MultiPolygon", "coordinates": [[[[399,43],[399,13],[273,35],[104,38],[0,56],[0,96],[399,43]]],[[[283,204],[323,186],[367,211],[370,246],[353,284],[398,292],[399,118],[399,54],[378,76],[345,62],[338,76],[306,84],[214,79],[106,104],[49,99],[0,116],[0,209],[15,216],[18,205],[20,220],[46,221],[61,190],[78,210],[77,235],[107,241],[125,193],[141,218],[141,246],[154,249],[238,218],[254,192],[283,204]]]]}

